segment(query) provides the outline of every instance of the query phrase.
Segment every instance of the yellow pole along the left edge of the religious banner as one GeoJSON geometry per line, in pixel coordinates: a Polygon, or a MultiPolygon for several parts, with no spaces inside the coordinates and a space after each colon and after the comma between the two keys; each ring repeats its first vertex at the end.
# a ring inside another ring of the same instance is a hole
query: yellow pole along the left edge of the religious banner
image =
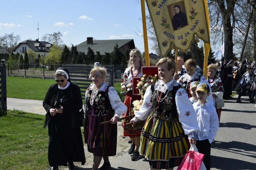
{"type": "Polygon", "coordinates": [[[144,50],[145,50],[145,65],[150,66],[149,52],[148,52],[148,41],[147,41],[145,1],[144,0],[140,1],[140,4],[141,4],[143,39],[144,39],[144,50]]]}

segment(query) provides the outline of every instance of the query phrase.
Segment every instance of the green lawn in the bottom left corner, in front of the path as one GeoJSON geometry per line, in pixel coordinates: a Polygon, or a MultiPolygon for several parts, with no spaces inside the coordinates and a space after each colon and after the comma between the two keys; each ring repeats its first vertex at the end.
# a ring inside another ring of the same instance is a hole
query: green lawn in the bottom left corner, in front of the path
{"type": "Polygon", "coordinates": [[[0,169],[47,169],[45,116],[7,111],[0,117],[0,169]]]}

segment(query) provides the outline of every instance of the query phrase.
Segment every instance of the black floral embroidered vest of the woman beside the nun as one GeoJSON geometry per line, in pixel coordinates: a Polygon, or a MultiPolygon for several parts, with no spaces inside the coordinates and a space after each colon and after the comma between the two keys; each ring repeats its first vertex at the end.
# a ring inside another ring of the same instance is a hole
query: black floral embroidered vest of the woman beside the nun
{"type": "MultiPolygon", "coordinates": [[[[106,91],[99,91],[97,96],[94,99],[94,103],[93,103],[93,109],[94,109],[94,116],[104,116],[104,115],[108,115],[108,114],[113,114],[115,111],[112,109],[112,106],[110,104],[110,100],[109,100],[109,96],[108,96],[108,90],[109,87],[106,89],[106,91]]],[[[88,97],[86,98],[86,105],[88,107],[88,110],[86,112],[86,114],[89,116],[89,112],[92,109],[92,105],[90,104],[90,98],[91,98],[91,93],[93,90],[89,90],[89,94],[88,97]]]]}

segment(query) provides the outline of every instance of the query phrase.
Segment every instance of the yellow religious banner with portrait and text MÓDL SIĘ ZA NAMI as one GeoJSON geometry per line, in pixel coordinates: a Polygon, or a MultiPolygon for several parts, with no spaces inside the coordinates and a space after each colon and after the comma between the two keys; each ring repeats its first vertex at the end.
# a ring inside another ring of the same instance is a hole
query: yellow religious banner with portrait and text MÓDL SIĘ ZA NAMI
{"type": "Polygon", "coordinates": [[[189,50],[194,36],[210,43],[206,0],[146,0],[162,57],[189,50]]]}

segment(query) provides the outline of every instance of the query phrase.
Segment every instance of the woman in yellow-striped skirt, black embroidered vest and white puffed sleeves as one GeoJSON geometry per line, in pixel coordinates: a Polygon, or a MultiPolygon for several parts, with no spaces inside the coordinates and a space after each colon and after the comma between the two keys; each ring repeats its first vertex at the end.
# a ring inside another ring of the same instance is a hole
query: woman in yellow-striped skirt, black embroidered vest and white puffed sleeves
{"type": "Polygon", "coordinates": [[[186,91],[173,79],[175,62],[161,58],[157,62],[160,80],[146,89],[142,107],[134,111],[133,126],[146,119],[141,134],[141,154],[150,169],[179,166],[188,145],[195,144],[197,117],[186,91]]]}

